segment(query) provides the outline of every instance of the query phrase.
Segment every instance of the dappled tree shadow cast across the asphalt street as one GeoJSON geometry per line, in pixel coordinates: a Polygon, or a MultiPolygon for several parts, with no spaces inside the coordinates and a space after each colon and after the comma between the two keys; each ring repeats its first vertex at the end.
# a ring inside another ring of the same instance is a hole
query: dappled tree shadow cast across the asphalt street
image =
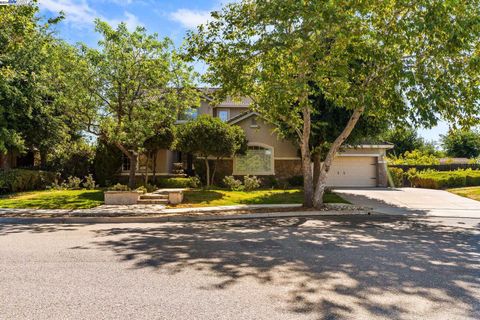
{"type": "Polygon", "coordinates": [[[445,310],[480,317],[480,236],[471,229],[349,216],[95,232],[94,247],[135,268],[215,274],[218,282],[205,290],[254,278],[284,290],[276,299],[290,312],[319,319],[421,318],[445,310]]]}

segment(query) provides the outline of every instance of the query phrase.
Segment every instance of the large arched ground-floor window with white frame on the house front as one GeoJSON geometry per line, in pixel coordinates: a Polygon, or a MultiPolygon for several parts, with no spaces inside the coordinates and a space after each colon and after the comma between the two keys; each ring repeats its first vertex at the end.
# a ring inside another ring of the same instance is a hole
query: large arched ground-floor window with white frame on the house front
{"type": "Polygon", "coordinates": [[[273,148],[267,146],[249,146],[245,155],[237,156],[233,163],[234,175],[274,174],[273,148]]]}

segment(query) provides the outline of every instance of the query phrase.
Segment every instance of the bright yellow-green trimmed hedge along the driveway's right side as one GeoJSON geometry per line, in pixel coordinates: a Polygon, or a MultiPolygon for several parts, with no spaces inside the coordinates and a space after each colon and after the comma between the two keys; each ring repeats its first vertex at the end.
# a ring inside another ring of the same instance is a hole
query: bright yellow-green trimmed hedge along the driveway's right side
{"type": "Polygon", "coordinates": [[[428,189],[480,186],[480,170],[426,170],[412,174],[409,180],[414,187],[428,189]]]}

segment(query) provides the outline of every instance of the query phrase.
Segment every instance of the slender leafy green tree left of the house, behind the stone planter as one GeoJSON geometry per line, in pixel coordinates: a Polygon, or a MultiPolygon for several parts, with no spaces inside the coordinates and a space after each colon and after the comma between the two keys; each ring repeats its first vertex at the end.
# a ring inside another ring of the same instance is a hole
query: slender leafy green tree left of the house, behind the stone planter
{"type": "Polygon", "coordinates": [[[72,114],[86,130],[115,145],[130,160],[129,186],[135,186],[138,156],[162,124],[199,104],[193,72],[172,48],[145,28],[129,32],[97,20],[98,49],[81,46],[71,74],[78,104],[72,114]],[[79,94],[81,93],[81,94],[79,94]]]}

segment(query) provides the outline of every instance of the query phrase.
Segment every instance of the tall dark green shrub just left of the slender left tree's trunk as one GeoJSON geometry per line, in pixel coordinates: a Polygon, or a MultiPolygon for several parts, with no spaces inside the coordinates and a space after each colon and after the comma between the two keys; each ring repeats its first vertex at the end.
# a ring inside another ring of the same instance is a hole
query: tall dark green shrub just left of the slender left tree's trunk
{"type": "Polygon", "coordinates": [[[93,160],[97,183],[107,186],[113,182],[122,167],[122,152],[115,146],[98,142],[93,160]]]}

